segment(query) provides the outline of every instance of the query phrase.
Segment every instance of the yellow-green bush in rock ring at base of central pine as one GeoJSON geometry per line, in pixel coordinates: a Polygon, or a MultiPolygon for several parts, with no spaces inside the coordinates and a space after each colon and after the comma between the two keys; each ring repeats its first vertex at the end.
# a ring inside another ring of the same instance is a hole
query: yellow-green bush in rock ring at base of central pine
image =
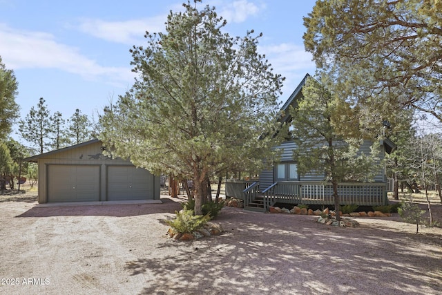
{"type": "Polygon", "coordinates": [[[180,234],[191,234],[193,231],[204,227],[210,220],[209,214],[195,216],[193,215],[193,210],[183,209],[179,212],[175,211],[175,214],[175,219],[165,220],[165,222],[180,234]]]}

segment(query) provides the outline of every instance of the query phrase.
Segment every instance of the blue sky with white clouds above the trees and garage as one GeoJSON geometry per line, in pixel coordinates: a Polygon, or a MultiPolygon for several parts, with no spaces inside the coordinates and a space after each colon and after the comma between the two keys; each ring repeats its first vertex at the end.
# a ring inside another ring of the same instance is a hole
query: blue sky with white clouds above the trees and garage
{"type": "MultiPolygon", "coordinates": [[[[129,50],[146,45],[144,34],[164,32],[166,17],[183,0],[0,0],[0,56],[19,83],[21,118],[43,97],[52,113],[68,119],[79,108],[97,117],[134,82],[129,50]]],[[[306,73],[315,72],[305,52],[302,17],[315,1],[203,0],[227,20],[226,32],[262,32],[258,53],[286,77],[285,102],[306,73]]],[[[18,135],[11,134],[15,139],[18,135]]]]}

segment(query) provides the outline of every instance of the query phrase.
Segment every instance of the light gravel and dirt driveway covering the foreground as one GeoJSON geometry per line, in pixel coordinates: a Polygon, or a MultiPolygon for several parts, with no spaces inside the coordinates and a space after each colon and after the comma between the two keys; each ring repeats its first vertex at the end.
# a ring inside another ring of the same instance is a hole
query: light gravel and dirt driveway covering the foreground
{"type": "MultiPolygon", "coordinates": [[[[35,207],[0,196],[0,294],[441,294],[442,229],[224,208],[220,236],[166,238],[163,204],[35,207]]],[[[440,211],[439,211],[440,214],[440,211]]]]}

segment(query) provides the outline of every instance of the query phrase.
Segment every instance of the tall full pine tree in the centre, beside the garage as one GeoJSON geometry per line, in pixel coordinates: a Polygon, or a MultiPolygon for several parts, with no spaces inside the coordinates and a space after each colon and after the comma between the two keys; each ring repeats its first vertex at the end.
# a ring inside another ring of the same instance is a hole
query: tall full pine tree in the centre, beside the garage
{"type": "Polygon", "coordinates": [[[262,166],[278,143],[281,77],[257,52],[253,30],[243,38],[222,32],[226,22],[200,1],[169,15],[166,33],[135,47],[139,76],[102,116],[108,151],[153,173],[193,180],[195,214],[207,180],[238,166],[262,166]]]}

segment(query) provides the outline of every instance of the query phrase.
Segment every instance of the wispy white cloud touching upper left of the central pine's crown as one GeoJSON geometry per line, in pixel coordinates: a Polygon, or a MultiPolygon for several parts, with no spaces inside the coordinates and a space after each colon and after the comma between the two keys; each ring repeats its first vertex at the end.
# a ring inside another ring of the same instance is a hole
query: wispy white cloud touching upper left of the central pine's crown
{"type": "Polygon", "coordinates": [[[151,17],[148,19],[133,19],[128,21],[103,21],[101,19],[82,19],[79,30],[88,35],[107,41],[136,44],[143,39],[146,31],[161,32],[164,30],[166,16],[151,17]]]}

